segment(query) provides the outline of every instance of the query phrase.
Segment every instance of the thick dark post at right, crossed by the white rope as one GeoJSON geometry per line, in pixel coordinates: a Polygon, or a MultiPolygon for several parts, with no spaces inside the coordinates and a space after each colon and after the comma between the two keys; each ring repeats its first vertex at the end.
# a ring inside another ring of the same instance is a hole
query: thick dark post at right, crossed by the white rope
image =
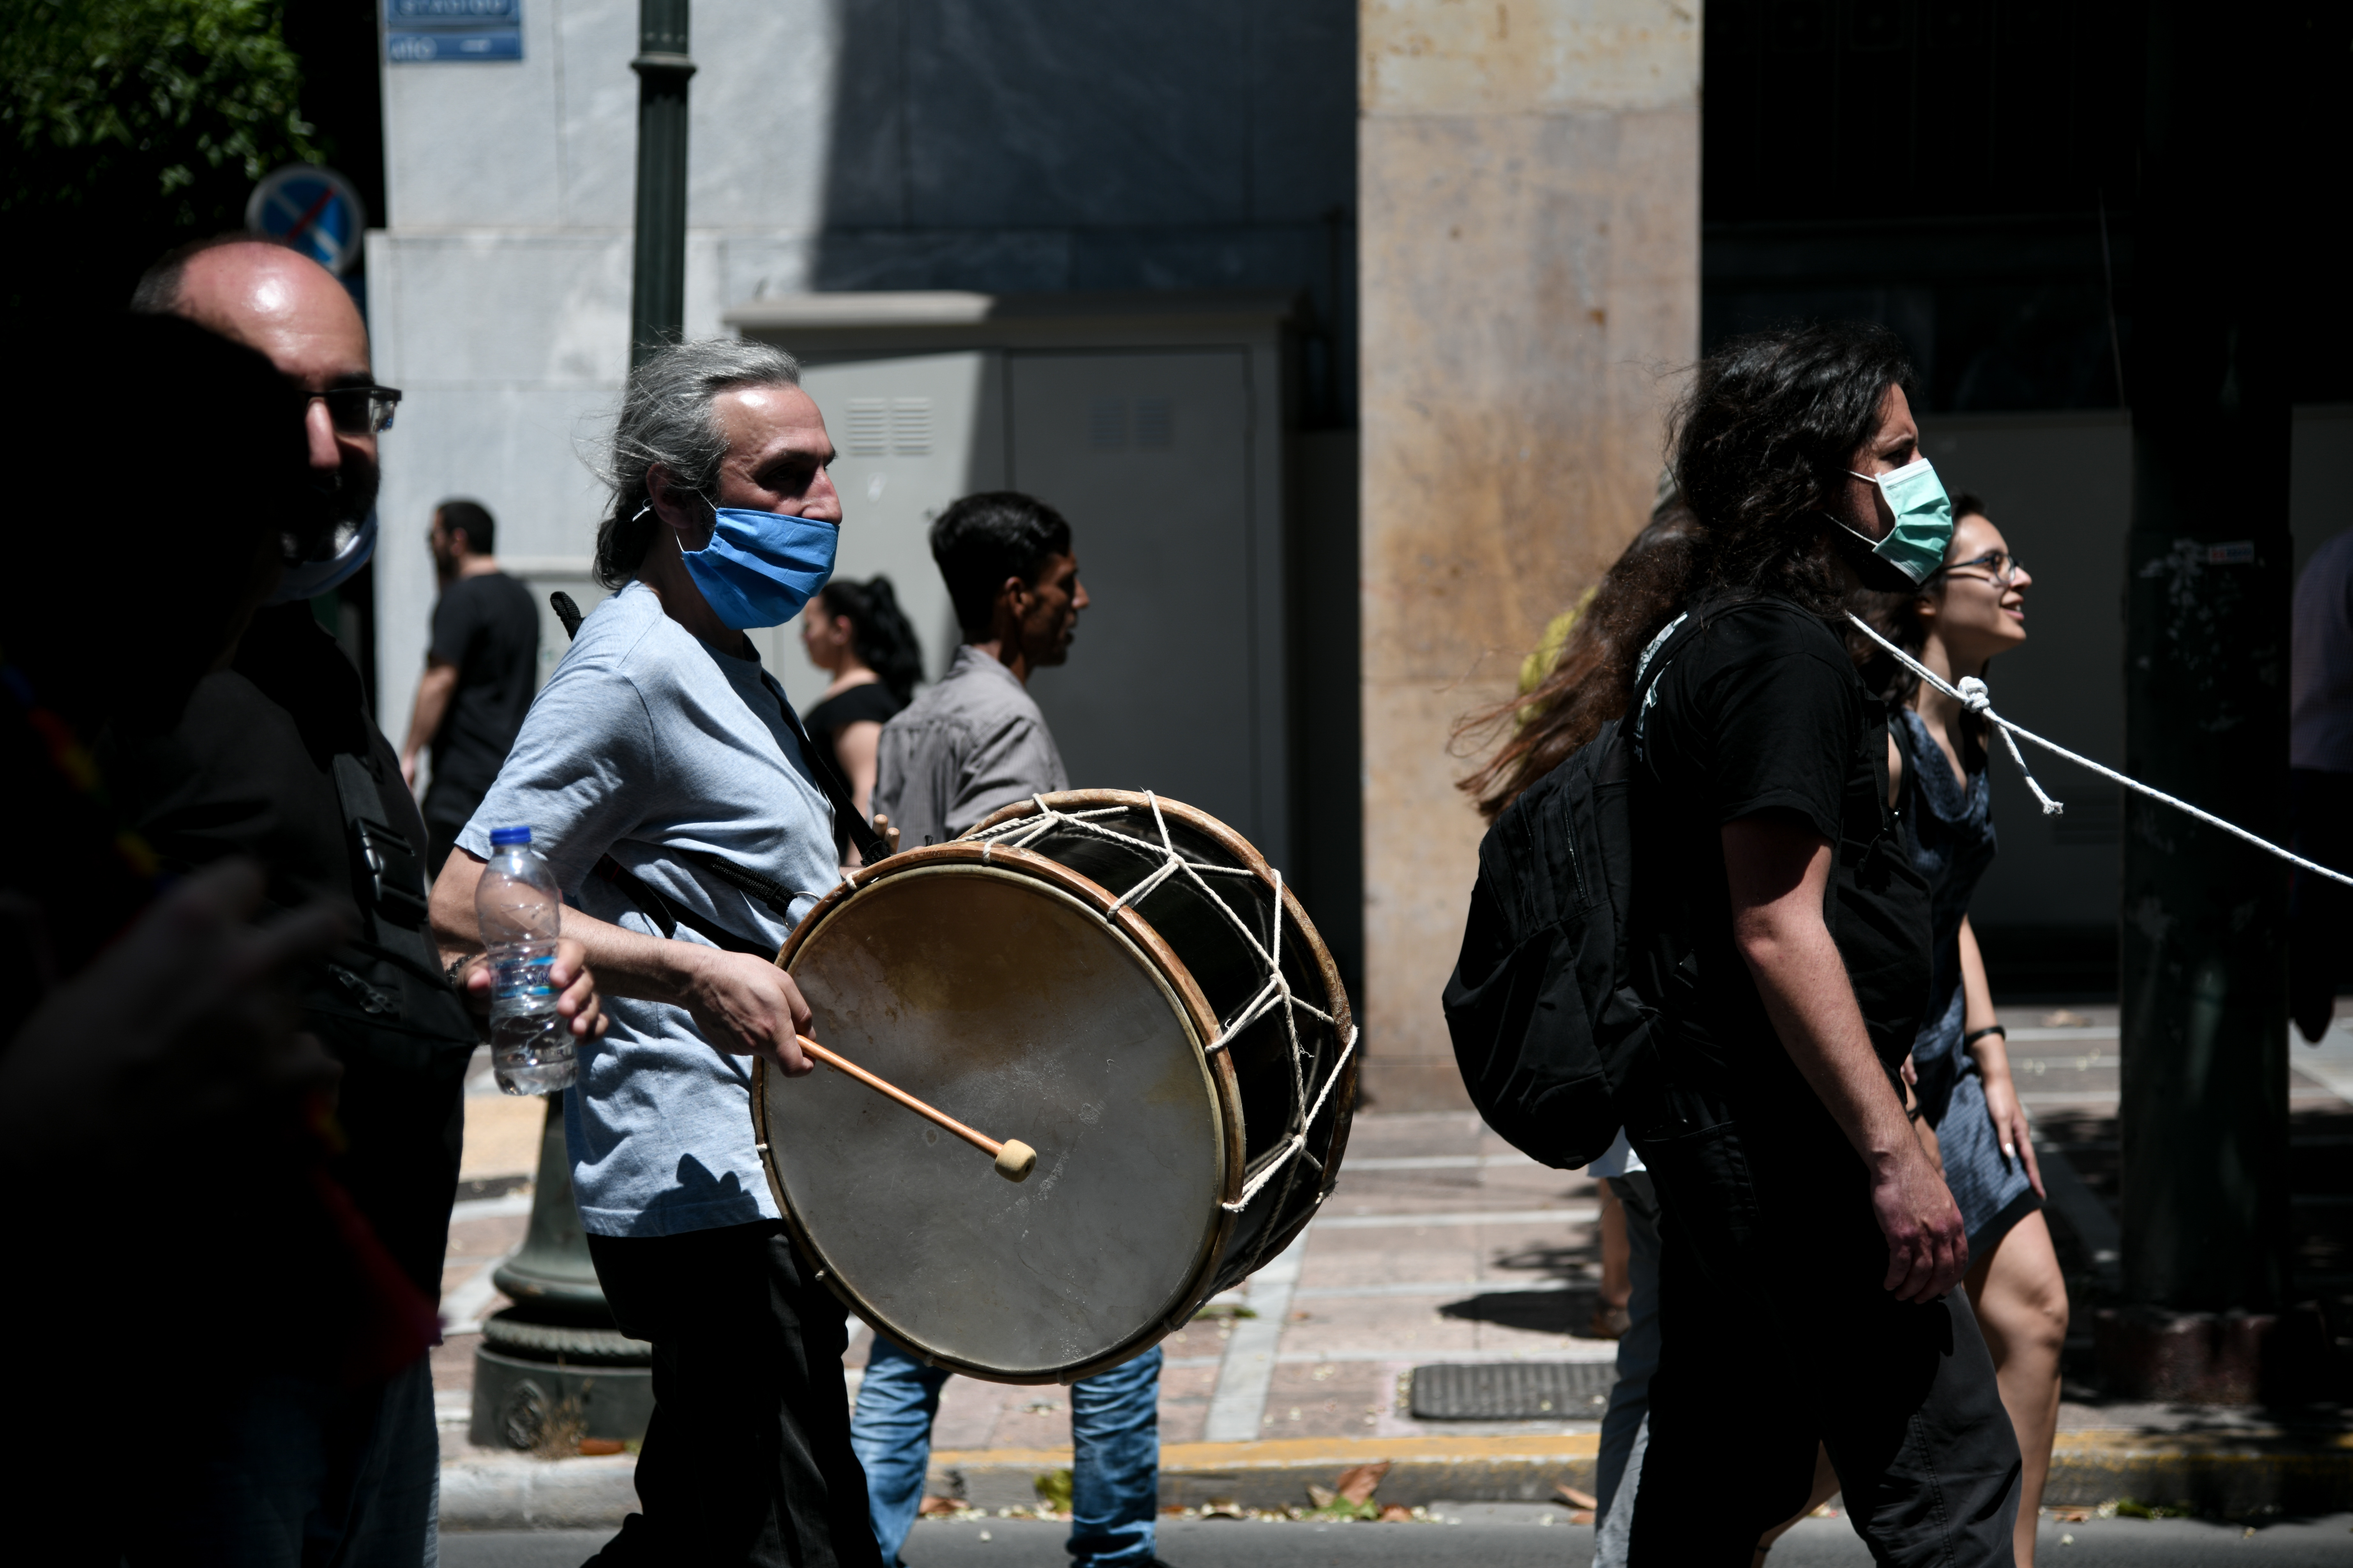
{"type": "MultiPolygon", "coordinates": [[[[2257,28],[2148,9],[2134,244],[2125,769],[2287,842],[2287,306],[2264,223],[2278,113],[2257,28]]],[[[2294,1340],[2287,867],[2127,797],[2120,919],[2127,1305],[2115,1392],[2242,1403],[2294,1340]]],[[[2318,1340],[2318,1335],[2311,1335],[2318,1340]]]]}

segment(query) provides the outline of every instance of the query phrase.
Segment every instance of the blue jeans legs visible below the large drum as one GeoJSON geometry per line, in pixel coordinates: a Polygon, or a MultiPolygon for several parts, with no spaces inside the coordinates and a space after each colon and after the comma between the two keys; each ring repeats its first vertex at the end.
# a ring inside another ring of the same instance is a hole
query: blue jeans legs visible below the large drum
{"type": "MultiPolygon", "coordinates": [[[[875,1335],[849,1446],[882,1561],[896,1563],[922,1505],[932,1418],[948,1373],[875,1335]]],[[[1075,1568],[1146,1568],[1160,1516],[1160,1349],[1071,1385],[1071,1540],[1075,1568]]]]}

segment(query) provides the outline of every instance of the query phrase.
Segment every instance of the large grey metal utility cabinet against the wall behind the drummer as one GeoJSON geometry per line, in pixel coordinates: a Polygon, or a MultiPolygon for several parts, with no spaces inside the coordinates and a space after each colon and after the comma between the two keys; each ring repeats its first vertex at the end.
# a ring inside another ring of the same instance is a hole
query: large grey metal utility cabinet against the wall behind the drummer
{"type": "MultiPolygon", "coordinates": [[[[1075,788],[1155,790],[1292,858],[1287,327],[1275,294],[800,294],[727,313],[791,350],[840,454],[840,576],[887,574],[925,675],[958,644],[927,531],[1019,489],[1092,607],[1031,691],[1075,788]]],[[[1348,562],[1353,578],[1353,559],[1348,562]]],[[[798,628],[769,668],[807,705],[798,628]]]]}

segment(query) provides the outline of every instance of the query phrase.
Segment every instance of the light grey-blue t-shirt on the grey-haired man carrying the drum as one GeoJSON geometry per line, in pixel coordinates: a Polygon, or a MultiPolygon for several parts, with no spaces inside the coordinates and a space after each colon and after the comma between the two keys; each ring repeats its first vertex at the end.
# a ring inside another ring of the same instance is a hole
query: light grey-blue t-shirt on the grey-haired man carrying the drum
{"type": "MultiPolygon", "coordinates": [[[[758,658],[718,654],[671,621],[642,583],[581,623],[456,842],[489,858],[492,827],[529,827],[567,903],[647,936],[659,931],[638,905],[591,875],[605,853],[715,926],[776,947],[786,919],[675,851],[704,849],[805,891],[795,922],[840,877],[833,809],[802,769],[784,689],[758,658]]],[[[704,943],[687,926],[678,940],[704,943]]],[[[581,1225],[675,1237],[779,1218],[753,1150],[751,1058],[704,1044],[680,1006],[605,997],[605,1011],[612,1027],[581,1046],[565,1093],[581,1225]]]]}

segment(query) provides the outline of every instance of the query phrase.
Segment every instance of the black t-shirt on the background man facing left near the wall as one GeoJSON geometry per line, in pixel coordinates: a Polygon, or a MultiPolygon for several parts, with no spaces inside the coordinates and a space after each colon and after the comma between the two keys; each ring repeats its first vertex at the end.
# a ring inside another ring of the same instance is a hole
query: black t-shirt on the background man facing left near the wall
{"type": "Polygon", "coordinates": [[[433,658],[456,665],[456,691],[433,736],[426,816],[464,825],[499,778],[539,691],[532,590],[504,571],[449,583],[433,607],[433,658]]]}

